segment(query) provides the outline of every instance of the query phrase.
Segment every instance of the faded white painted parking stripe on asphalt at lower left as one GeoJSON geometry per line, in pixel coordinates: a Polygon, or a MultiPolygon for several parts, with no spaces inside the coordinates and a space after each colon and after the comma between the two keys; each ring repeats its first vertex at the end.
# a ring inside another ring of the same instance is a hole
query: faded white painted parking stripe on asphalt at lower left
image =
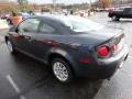
{"type": "MultiPolygon", "coordinates": [[[[20,94],[21,90],[20,88],[16,86],[16,84],[14,82],[14,80],[12,79],[12,77],[10,75],[8,75],[6,77],[8,79],[8,81],[10,82],[10,85],[13,87],[13,89],[15,90],[16,94],[20,94]]],[[[20,99],[25,99],[24,96],[20,96],[20,99]]]]}

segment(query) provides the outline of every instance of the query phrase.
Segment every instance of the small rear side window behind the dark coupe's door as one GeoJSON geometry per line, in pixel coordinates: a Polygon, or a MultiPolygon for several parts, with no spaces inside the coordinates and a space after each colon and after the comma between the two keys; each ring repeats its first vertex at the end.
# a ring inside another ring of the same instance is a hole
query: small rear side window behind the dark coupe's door
{"type": "Polygon", "coordinates": [[[53,33],[53,32],[55,32],[55,29],[52,28],[51,25],[46,24],[46,23],[43,23],[40,28],[40,32],[42,32],[42,33],[53,33]]]}

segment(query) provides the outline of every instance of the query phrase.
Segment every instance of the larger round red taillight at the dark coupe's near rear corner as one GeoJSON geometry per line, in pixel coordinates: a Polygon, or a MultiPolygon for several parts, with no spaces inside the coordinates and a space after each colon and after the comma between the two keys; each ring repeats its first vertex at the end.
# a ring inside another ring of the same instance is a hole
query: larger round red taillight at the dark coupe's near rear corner
{"type": "Polygon", "coordinates": [[[98,55],[99,57],[106,57],[106,56],[108,56],[108,54],[109,54],[109,48],[108,48],[108,46],[99,46],[99,47],[97,48],[97,55],[98,55]]]}

